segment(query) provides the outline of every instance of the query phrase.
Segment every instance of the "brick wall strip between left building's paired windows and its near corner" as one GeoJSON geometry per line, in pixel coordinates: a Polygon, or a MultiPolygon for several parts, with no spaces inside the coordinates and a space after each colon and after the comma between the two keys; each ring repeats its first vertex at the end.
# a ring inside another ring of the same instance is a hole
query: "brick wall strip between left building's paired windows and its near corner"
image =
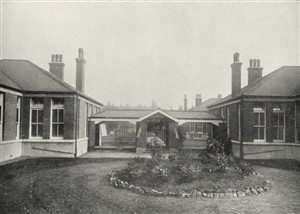
{"type": "Polygon", "coordinates": [[[76,130],[76,98],[64,99],[64,139],[74,139],[76,130]]]}

